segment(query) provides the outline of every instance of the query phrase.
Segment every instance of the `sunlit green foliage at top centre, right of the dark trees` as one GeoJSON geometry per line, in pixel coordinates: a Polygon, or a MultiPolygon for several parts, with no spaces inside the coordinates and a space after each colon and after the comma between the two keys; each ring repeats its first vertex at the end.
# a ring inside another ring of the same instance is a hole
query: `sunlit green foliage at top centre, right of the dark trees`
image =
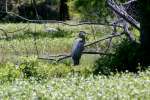
{"type": "Polygon", "coordinates": [[[109,11],[105,0],[70,0],[70,9],[80,14],[82,20],[106,21],[109,11]]]}

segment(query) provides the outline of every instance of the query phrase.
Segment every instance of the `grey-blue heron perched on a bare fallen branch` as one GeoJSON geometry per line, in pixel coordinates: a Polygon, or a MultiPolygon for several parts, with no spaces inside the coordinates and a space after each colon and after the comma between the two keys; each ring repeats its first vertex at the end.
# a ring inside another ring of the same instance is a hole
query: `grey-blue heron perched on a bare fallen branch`
{"type": "Polygon", "coordinates": [[[73,44],[71,57],[72,57],[74,66],[79,65],[80,63],[82,51],[84,50],[85,34],[86,33],[84,31],[80,31],[78,38],[75,40],[73,44]]]}

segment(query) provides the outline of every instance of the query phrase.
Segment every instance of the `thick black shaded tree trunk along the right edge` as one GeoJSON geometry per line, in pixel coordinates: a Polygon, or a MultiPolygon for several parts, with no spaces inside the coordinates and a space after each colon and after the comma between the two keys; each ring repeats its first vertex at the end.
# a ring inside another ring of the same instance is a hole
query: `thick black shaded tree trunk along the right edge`
{"type": "Polygon", "coordinates": [[[140,13],[140,41],[143,55],[142,64],[150,65],[150,0],[138,0],[140,13]]]}

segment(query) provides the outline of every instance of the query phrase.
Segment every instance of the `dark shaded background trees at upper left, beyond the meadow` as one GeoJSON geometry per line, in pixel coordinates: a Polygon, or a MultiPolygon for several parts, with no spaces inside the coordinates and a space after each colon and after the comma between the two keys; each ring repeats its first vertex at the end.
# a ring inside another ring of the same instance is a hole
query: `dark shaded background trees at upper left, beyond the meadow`
{"type": "MultiPolygon", "coordinates": [[[[0,0],[0,12],[6,11],[6,0],[0,0]]],[[[67,0],[7,0],[9,12],[28,19],[67,20],[69,11],[67,0]]],[[[0,13],[0,20],[11,22],[23,21],[16,16],[0,13]]]]}

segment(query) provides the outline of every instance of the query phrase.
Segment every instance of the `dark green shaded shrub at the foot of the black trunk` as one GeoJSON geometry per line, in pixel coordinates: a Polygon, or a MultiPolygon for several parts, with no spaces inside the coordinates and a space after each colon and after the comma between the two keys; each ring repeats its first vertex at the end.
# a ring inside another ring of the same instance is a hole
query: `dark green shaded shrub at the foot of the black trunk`
{"type": "Polygon", "coordinates": [[[111,72],[137,72],[141,69],[140,63],[140,45],[123,39],[122,42],[115,47],[113,55],[102,56],[95,63],[95,74],[101,73],[108,75],[111,72]]]}

